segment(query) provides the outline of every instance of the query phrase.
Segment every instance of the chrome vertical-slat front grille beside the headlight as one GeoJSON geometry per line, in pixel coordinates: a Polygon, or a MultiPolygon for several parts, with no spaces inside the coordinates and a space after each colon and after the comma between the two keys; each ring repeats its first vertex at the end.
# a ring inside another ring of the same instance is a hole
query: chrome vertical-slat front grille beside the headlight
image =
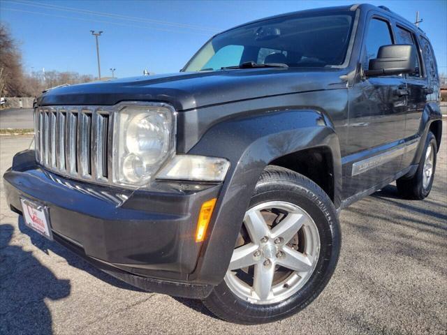
{"type": "Polygon", "coordinates": [[[108,184],[112,177],[111,115],[110,110],[101,107],[36,108],[34,128],[38,163],[74,179],[108,184]]]}

